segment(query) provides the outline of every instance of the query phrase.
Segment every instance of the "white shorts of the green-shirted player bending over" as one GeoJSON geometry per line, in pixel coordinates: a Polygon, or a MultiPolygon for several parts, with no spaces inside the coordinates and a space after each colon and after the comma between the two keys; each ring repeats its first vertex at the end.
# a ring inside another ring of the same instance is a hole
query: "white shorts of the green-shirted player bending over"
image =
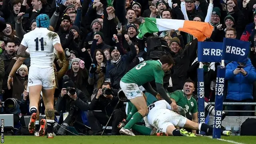
{"type": "Polygon", "coordinates": [[[120,80],[120,88],[123,90],[128,100],[143,96],[142,90],[139,88],[138,84],[124,83],[120,80]]]}

